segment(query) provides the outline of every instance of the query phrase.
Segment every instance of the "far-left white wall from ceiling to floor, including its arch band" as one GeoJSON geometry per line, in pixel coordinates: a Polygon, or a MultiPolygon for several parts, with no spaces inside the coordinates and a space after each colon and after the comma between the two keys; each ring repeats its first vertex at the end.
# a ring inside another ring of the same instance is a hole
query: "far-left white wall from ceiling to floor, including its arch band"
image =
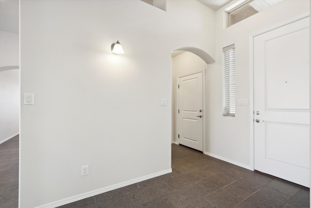
{"type": "Polygon", "coordinates": [[[18,34],[0,31],[0,143],[19,132],[18,38],[18,34]]]}

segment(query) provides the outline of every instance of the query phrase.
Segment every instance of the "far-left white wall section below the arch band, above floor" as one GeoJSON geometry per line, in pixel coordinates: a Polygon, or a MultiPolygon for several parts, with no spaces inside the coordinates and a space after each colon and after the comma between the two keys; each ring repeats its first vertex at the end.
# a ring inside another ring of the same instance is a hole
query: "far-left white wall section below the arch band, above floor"
{"type": "Polygon", "coordinates": [[[0,72],[0,144],[19,132],[19,69],[0,72]]]}

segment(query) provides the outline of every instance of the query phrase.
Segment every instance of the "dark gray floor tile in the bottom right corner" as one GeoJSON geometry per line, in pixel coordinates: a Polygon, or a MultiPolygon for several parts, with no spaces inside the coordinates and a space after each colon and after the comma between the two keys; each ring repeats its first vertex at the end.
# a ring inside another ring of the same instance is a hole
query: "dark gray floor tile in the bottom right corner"
{"type": "Polygon", "coordinates": [[[299,189],[297,193],[284,205],[284,208],[309,208],[310,190],[299,189]]]}

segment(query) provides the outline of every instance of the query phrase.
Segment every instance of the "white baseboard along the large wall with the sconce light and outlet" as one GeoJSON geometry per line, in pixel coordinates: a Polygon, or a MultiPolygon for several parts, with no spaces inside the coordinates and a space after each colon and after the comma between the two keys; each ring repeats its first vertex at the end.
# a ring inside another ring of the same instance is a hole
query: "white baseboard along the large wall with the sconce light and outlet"
{"type": "Polygon", "coordinates": [[[36,207],[36,208],[56,208],[56,207],[59,207],[59,206],[62,206],[62,205],[66,205],[66,204],[69,204],[69,203],[72,203],[72,202],[75,202],[75,201],[86,199],[88,197],[95,196],[95,195],[98,195],[98,194],[101,194],[101,193],[104,193],[104,192],[107,192],[107,191],[110,191],[110,190],[119,189],[119,188],[122,188],[122,187],[125,187],[125,186],[128,186],[128,185],[132,185],[132,184],[135,184],[135,183],[138,183],[138,182],[150,179],[150,178],[154,178],[154,177],[157,177],[157,176],[160,176],[160,175],[164,175],[164,174],[167,174],[167,173],[170,173],[170,172],[172,172],[172,169],[163,170],[163,171],[160,171],[160,172],[155,172],[155,173],[150,174],[150,175],[142,176],[142,177],[139,177],[139,178],[136,178],[136,179],[133,179],[133,180],[125,181],[125,182],[122,182],[122,183],[119,183],[119,184],[115,184],[115,185],[112,185],[112,186],[108,186],[108,187],[105,187],[105,188],[102,188],[102,189],[97,189],[97,190],[93,190],[93,191],[86,192],[86,193],[83,193],[83,194],[79,194],[77,196],[69,197],[67,199],[63,199],[63,200],[60,200],[60,201],[57,201],[57,202],[52,202],[52,203],[49,203],[49,204],[46,204],[46,205],[42,205],[42,206],[39,206],[39,207],[36,207]]]}

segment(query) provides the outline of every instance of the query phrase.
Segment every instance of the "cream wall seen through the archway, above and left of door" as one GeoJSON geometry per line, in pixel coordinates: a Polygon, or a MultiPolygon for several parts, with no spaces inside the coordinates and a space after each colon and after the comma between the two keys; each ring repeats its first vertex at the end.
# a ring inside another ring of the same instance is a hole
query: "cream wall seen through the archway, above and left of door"
{"type": "MultiPolygon", "coordinates": [[[[177,77],[193,72],[208,69],[207,63],[200,57],[190,52],[182,53],[172,57],[172,142],[178,143],[177,119],[177,77]]],[[[205,77],[207,79],[207,77],[205,77]]]]}

